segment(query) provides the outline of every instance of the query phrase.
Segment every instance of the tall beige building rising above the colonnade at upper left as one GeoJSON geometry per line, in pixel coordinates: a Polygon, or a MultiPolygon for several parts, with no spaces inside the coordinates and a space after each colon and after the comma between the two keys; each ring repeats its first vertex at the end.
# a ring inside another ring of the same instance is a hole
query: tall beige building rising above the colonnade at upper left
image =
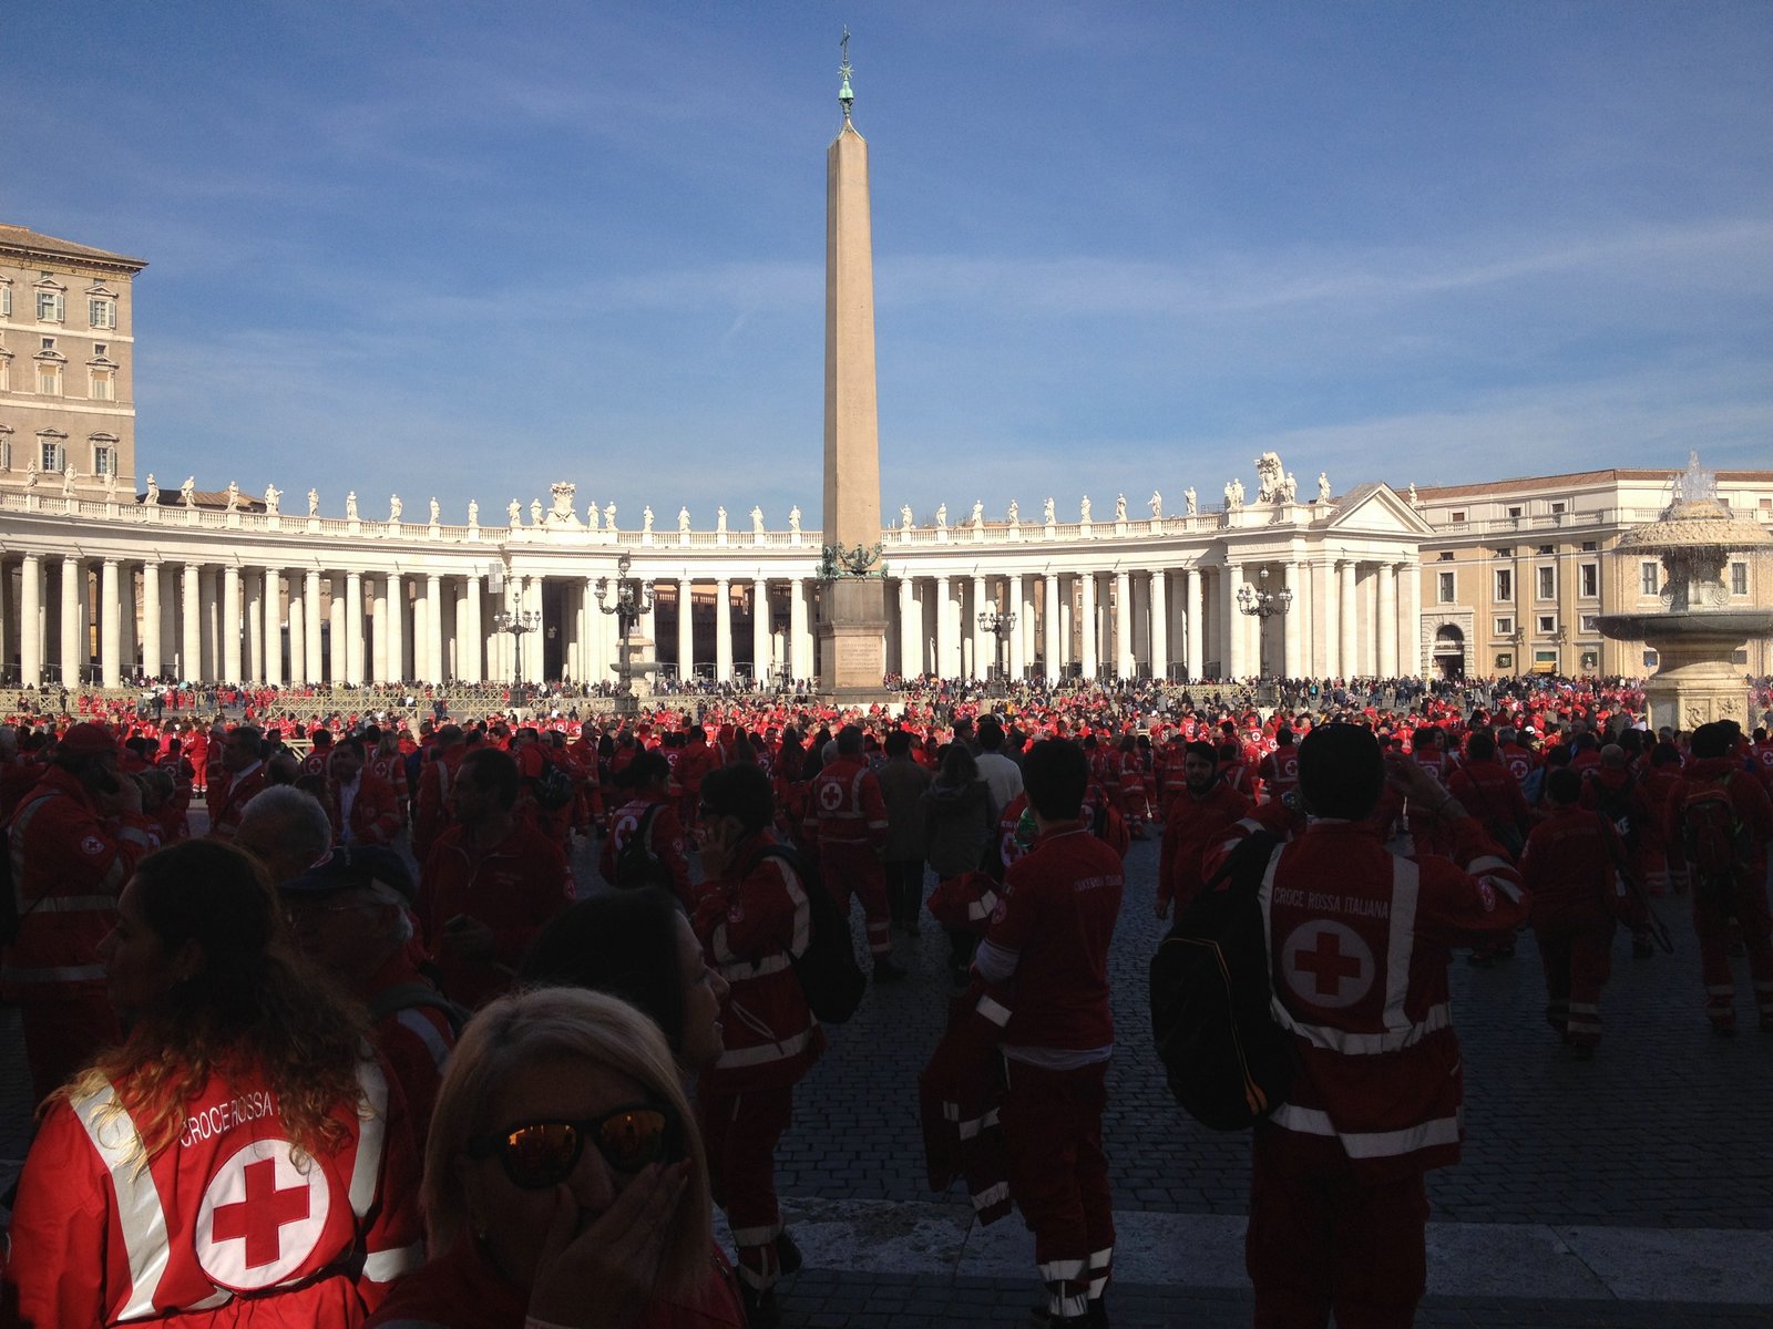
{"type": "Polygon", "coordinates": [[[147,264],[0,223],[0,473],[135,486],[135,310],[147,264]]]}

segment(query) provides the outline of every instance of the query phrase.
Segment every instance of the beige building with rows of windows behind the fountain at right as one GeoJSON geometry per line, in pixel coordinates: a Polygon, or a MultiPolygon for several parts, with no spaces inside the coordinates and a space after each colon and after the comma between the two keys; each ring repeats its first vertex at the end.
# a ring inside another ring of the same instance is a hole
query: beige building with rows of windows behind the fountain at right
{"type": "MultiPolygon", "coordinates": [[[[1661,514],[1677,470],[1576,471],[1417,493],[1415,507],[1433,528],[1422,542],[1424,672],[1649,673],[1656,652],[1642,641],[1608,641],[1596,618],[1656,610],[1661,565],[1615,556],[1613,546],[1661,514]]],[[[1718,471],[1718,498],[1738,516],[1773,525],[1773,470],[1718,471]]],[[[1773,602],[1773,558],[1732,555],[1727,585],[1739,608],[1773,602]]],[[[1750,641],[1738,663],[1773,673],[1773,643],[1750,641]]]]}

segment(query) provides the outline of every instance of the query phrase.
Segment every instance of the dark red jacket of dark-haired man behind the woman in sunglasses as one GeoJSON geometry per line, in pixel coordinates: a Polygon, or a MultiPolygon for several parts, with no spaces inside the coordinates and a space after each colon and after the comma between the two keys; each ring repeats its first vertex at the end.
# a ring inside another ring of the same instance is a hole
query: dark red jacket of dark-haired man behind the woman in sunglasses
{"type": "Polygon", "coordinates": [[[433,845],[418,877],[418,921],[438,957],[443,991],[465,1006],[484,1006],[511,987],[523,952],[543,923],[573,904],[573,872],[560,845],[516,822],[491,849],[452,826],[433,845]],[[449,920],[468,914],[493,930],[493,955],[463,960],[438,948],[449,920]]]}

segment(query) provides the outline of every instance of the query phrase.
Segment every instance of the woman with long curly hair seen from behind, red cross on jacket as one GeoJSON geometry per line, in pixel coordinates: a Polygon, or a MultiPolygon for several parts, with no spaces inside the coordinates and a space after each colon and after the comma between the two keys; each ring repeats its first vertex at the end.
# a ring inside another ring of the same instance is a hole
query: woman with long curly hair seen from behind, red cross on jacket
{"type": "Polygon", "coordinates": [[[117,914],[99,959],[129,1033],[44,1106],[20,1322],[362,1324],[418,1260],[411,1132],[363,1014],[239,849],[149,854],[117,914]]]}

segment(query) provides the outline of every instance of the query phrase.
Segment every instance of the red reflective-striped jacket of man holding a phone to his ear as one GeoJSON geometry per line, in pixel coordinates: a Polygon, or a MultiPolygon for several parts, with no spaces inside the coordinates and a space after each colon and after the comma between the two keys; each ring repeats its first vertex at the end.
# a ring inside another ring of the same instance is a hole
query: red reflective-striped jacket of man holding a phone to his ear
{"type": "Polygon", "coordinates": [[[769,831],[741,840],[718,881],[702,886],[695,936],[707,962],[732,985],[727,998],[727,1051],[702,1072],[711,1093],[794,1084],[824,1051],[824,1030],[789,962],[812,939],[812,907],[800,874],[764,856],[769,831]]]}

